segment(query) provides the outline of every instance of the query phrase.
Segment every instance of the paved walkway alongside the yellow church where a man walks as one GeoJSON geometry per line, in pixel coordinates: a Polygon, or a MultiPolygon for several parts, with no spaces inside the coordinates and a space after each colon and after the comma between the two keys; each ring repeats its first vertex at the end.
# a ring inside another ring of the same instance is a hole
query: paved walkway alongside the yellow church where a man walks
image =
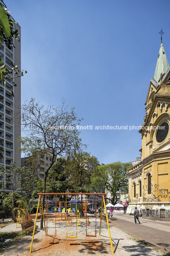
{"type": "Polygon", "coordinates": [[[123,213],[114,213],[113,218],[109,218],[109,222],[127,234],[170,255],[170,222],[140,218],[140,224],[135,224],[133,216],[123,213]]]}

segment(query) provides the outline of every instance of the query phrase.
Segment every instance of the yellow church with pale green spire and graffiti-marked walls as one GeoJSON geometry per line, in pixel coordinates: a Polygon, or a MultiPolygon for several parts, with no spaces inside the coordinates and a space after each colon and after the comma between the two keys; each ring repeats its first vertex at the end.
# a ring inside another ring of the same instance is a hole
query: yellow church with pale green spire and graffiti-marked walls
{"type": "Polygon", "coordinates": [[[170,66],[162,44],[145,102],[140,129],[141,158],[129,171],[129,207],[142,218],[170,221],[170,66]]]}

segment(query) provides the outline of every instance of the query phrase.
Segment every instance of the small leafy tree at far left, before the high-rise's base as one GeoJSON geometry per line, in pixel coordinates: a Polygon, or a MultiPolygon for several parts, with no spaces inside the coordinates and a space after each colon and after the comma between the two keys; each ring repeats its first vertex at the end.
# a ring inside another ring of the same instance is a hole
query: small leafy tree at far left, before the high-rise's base
{"type": "Polygon", "coordinates": [[[14,222],[16,222],[14,210],[15,203],[20,198],[18,192],[24,192],[26,196],[27,193],[30,192],[33,188],[34,177],[30,169],[27,167],[16,167],[14,163],[10,164],[10,169],[3,169],[2,171],[4,172],[6,187],[10,187],[12,190],[12,192],[6,195],[4,200],[7,200],[11,205],[12,218],[14,222]]]}

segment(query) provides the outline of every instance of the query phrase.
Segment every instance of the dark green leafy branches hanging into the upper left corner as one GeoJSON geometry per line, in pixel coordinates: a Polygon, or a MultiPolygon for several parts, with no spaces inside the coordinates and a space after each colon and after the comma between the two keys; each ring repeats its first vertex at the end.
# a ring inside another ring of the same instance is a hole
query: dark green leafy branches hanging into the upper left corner
{"type": "MultiPolygon", "coordinates": [[[[12,19],[9,12],[10,11],[7,11],[7,6],[5,5],[3,0],[0,0],[0,43],[4,41],[6,46],[11,49],[12,47],[14,47],[14,44],[12,42],[13,38],[20,41],[20,35],[18,33],[18,30],[15,29],[15,24],[17,24],[17,22],[12,19]]],[[[17,78],[23,76],[24,73],[27,73],[27,71],[20,71],[15,63],[11,62],[11,65],[15,74],[13,77],[9,75],[12,72],[10,70],[6,70],[6,65],[3,64],[0,58],[0,81],[3,83],[3,85],[5,84],[6,78],[17,78]]],[[[15,82],[13,82],[13,85],[16,86],[15,82]]]]}

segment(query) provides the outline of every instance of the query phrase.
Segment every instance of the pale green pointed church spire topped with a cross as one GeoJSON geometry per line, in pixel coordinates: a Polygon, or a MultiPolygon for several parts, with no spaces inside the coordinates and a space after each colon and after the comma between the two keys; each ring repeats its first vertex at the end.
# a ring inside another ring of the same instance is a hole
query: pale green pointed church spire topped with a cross
{"type": "Polygon", "coordinates": [[[165,74],[170,67],[168,60],[167,60],[167,56],[165,54],[163,44],[162,44],[162,34],[164,34],[164,32],[161,29],[161,31],[159,33],[160,33],[160,37],[161,37],[161,44],[160,44],[160,52],[158,54],[158,60],[157,60],[157,64],[156,64],[155,74],[154,74],[154,79],[157,82],[160,79],[160,74],[162,74],[162,75],[165,74]]]}

